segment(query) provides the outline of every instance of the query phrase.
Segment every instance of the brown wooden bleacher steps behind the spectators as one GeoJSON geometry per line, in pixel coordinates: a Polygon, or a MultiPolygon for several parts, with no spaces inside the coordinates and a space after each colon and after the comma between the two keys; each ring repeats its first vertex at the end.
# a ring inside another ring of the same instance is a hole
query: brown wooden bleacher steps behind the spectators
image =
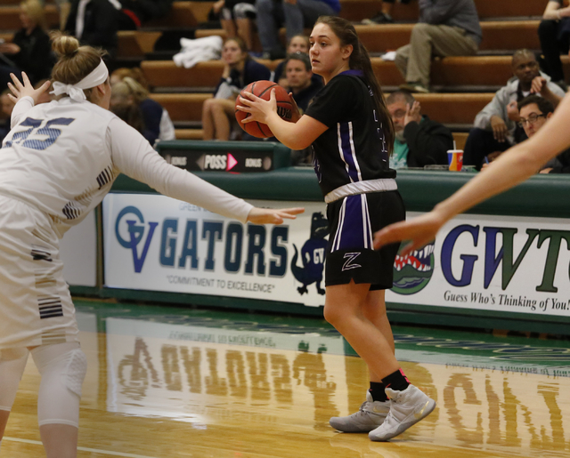
{"type": "MultiPolygon", "coordinates": [[[[45,6],[51,27],[58,22],[53,0],[45,6]]],[[[461,147],[467,130],[476,113],[493,98],[493,92],[506,84],[512,76],[510,54],[520,48],[537,51],[540,43],[537,28],[546,1],[475,0],[481,18],[483,42],[479,53],[472,57],[436,59],[432,66],[432,87],[436,92],[418,94],[422,111],[432,119],[449,125],[461,147]]],[[[0,37],[12,38],[19,27],[19,0],[0,0],[0,37]]],[[[221,29],[197,29],[208,18],[214,2],[176,1],[173,10],[161,20],[145,24],[138,31],[118,33],[118,58],[133,64],[140,63],[144,75],[154,88],[151,97],[167,108],[176,126],[176,135],[182,139],[200,139],[202,131],[201,108],[204,100],[212,96],[222,74],[220,61],[201,62],[194,68],[178,68],[170,56],[178,50],[165,53],[169,60],[156,60],[162,54],[154,52],[157,41],[175,30],[188,37],[220,35],[221,29]]],[[[373,56],[395,50],[409,43],[413,23],[418,17],[417,1],[411,4],[395,3],[395,24],[368,26],[359,22],[370,18],[379,10],[377,0],[341,0],[340,15],[358,22],[355,27],[362,42],[373,56]]],[[[284,38],[284,31],[281,31],[284,38]]],[[[278,61],[263,61],[275,68],[278,61]]],[[[565,71],[570,72],[570,61],[563,57],[565,71]]],[[[380,83],[387,92],[403,83],[394,62],[372,58],[380,83]]]]}

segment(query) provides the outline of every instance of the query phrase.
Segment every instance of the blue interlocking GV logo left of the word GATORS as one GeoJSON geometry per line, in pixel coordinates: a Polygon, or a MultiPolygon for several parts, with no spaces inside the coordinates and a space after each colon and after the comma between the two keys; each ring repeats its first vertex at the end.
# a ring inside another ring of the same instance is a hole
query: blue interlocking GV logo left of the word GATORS
{"type": "Polygon", "coordinates": [[[144,235],[144,217],[142,216],[141,211],[133,205],[126,206],[120,211],[120,213],[118,213],[117,222],[115,223],[115,236],[117,237],[118,243],[123,248],[127,248],[132,251],[134,271],[137,274],[142,271],[142,265],[144,264],[147,253],[149,253],[149,246],[151,246],[154,229],[159,225],[158,222],[151,221],[149,221],[148,224],[149,231],[142,246],[142,253],[139,254],[137,247],[142,242],[142,237],[144,235]],[[126,222],[127,226],[127,239],[121,236],[120,229],[123,219],[125,219],[124,222],[126,222]]]}

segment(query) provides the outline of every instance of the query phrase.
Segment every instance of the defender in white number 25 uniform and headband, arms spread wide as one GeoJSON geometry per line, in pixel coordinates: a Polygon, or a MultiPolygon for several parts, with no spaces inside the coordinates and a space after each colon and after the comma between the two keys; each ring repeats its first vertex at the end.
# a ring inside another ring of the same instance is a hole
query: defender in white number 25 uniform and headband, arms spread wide
{"type": "Polygon", "coordinates": [[[109,110],[102,54],[56,36],[60,100],[35,105],[39,90],[12,76],[12,131],[0,150],[0,444],[28,352],[42,375],[38,422],[48,458],[77,455],[85,355],[59,238],[109,192],[118,173],[242,222],[281,223],[303,210],[258,209],[168,165],[140,133],[109,110]]]}

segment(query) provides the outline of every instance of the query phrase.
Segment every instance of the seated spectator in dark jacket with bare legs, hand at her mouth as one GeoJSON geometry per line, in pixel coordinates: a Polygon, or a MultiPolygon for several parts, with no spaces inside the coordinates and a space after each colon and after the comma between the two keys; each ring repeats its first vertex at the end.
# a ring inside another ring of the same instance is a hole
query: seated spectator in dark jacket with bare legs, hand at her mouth
{"type": "Polygon", "coordinates": [[[248,48],[240,37],[225,40],[222,60],[224,72],[214,98],[206,100],[202,108],[204,140],[230,140],[235,122],[235,99],[241,89],[271,77],[269,68],[249,57],[248,48]]]}

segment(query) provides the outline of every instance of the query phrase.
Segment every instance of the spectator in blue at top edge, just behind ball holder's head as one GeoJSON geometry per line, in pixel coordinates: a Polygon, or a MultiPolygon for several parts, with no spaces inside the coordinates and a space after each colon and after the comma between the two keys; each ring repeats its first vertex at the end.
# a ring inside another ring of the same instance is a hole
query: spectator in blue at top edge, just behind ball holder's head
{"type": "Polygon", "coordinates": [[[279,27],[284,23],[287,40],[303,35],[304,28],[312,28],[319,16],[336,16],[339,0],[256,0],[257,32],[265,59],[284,57],[279,40],[279,27]]]}

